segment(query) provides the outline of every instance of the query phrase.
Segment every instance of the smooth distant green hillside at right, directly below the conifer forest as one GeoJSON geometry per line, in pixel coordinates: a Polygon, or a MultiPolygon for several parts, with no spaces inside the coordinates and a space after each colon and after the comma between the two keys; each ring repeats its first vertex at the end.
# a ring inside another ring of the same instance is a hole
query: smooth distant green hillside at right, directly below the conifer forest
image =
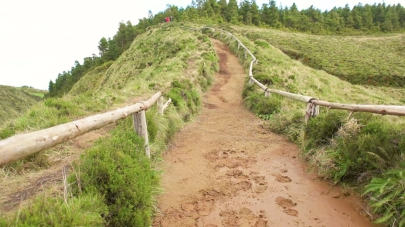
{"type": "Polygon", "coordinates": [[[405,34],[315,36],[255,27],[231,29],[253,41],[266,40],[292,59],[354,84],[405,86],[405,34]]]}

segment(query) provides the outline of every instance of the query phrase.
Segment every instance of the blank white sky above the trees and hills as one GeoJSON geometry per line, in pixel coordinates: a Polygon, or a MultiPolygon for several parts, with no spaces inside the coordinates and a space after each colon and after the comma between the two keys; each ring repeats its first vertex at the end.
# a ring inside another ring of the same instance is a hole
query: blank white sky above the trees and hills
{"type": "MultiPolygon", "coordinates": [[[[289,6],[295,2],[299,10],[310,5],[329,10],[349,0],[281,2],[289,6]]],[[[47,89],[49,80],[55,81],[58,73],[70,70],[75,60],[82,64],[84,57],[97,55],[100,38],[114,36],[120,21],[135,25],[139,18],[148,16],[148,10],[157,13],[167,3],[185,8],[191,0],[1,0],[0,84],[47,89]]],[[[262,3],[268,1],[257,0],[257,5],[262,3]]],[[[405,5],[405,0],[385,3],[405,5]]]]}

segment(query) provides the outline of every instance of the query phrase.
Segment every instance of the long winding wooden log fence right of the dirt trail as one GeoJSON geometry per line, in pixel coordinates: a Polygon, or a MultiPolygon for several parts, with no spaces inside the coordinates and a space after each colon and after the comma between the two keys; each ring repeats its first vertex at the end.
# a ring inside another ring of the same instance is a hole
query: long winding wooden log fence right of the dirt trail
{"type": "Polygon", "coordinates": [[[233,36],[233,34],[231,34],[229,31],[224,31],[222,29],[216,29],[213,27],[201,27],[199,29],[194,29],[192,27],[185,27],[185,26],[182,27],[184,27],[185,29],[190,29],[192,31],[200,31],[201,33],[203,32],[203,29],[212,30],[213,33],[215,31],[218,31],[221,33],[221,37],[225,34],[227,35],[228,38],[232,38],[234,41],[238,42],[238,50],[240,49],[240,46],[242,46],[242,48],[244,49],[244,58],[247,57],[247,54],[251,55],[251,57],[253,58],[249,66],[248,72],[249,84],[255,83],[256,85],[259,86],[259,88],[262,88],[262,90],[264,90],[264,95],[266,97],[270,96],[271,93],[275,93],[284,96],[286,98],[293,99],[295,101],[307,103],[305,123],[308,122],[309,118],[318,116],[319,106],[328,107],[329,109],[345,109],[351,111],[351,114],[354,112],[367,112],[372,114],[405,116],[405,106],[330,103],[327,101],[320,101],[318,98],[312,98],[311,96],[304,96],[301,94],[293,94],[290,92],[284,92],[281,90],[267,88],[265,85],[257,81],[255,77],[253,77],[252,73],[253,63],[257,64],[257,58],[255,57],[255,55],[253,55],[253,53],[251,53],[251,51],[248,50],[248,48],[242,42],[240,42],[238,38],[236,38],[236,36],[233,36]]]}

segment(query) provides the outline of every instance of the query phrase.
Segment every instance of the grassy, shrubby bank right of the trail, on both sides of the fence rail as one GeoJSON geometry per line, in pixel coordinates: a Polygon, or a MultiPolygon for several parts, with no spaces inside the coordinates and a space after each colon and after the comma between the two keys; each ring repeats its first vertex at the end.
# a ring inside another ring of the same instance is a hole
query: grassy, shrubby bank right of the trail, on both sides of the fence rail
{"type": "MultiPolygon", "coordinates": [[[[403,105],[391,94],[392,89],[384,92],[352,85],[291,59],[266,41],[267,32],[254,33],[256,29],[252,29],[254,34],[250,36],[255,38],[246,38],[236,31],[246,33],[246,27],[233,28],[233,34],[259,59],[253,67],[253,75],[269,88],[339,103],[403,105]]],[[[237,42],[225,36],[220,38],[218,34],[214,37],[229,44],[247,72],[251,59],[244,59],[237,42]]],[[[263,90],[247,83],[242,96],[249,109],[268,120],[268,129],[283,133],[301,146],[301,157],[319,177],[350,185],[364,193],[374,212],[381,217],[377,222],[390,226],[405,222],[402,197],[405,193],[405,118],[363,113],[349,116],[348,111],[321,107],[320,115],[305,125],[304,103],[277,94],[265,98],[263,90]]]]}

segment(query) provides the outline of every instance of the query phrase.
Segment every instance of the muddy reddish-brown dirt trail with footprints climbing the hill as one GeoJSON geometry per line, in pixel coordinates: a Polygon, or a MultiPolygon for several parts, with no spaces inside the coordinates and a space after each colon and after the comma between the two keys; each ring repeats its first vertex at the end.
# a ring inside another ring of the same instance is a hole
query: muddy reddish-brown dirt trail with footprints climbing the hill
{"type": "Polygon", "coordinates": [[[198,122],[164,155],[153,226],[374,226],[353,196],[314,181],[297,146],[262,129],[242,104],[245,73],[227,46],[198,122]]]}

